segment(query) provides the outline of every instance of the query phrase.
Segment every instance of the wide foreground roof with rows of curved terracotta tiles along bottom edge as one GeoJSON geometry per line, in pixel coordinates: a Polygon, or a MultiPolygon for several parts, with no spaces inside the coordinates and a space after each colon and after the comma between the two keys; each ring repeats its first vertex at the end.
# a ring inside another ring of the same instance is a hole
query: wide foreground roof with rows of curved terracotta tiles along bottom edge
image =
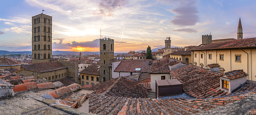
{"type": "Polygon", "coordinates": [[[194,114],[224,106],[252,94],[254,92],[225,98],[196,100],[91,95],[89,111],[96,114],[194,114]]]}

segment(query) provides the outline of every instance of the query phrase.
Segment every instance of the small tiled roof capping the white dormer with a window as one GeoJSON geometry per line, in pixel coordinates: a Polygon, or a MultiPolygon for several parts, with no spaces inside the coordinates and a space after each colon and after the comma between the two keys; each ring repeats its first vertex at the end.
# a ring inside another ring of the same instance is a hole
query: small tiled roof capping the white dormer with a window
{"type": "Polygon", "coordinates": [[[243,70],[233,70],[233,71],[229,71],[229,72],[226,72],[225,75],[226,75],[227,78],[229,78],[229,79],[237,79],[237,78],[240,78],[240,77],[248,76],[248,74],[245,73],[243,70]]]}

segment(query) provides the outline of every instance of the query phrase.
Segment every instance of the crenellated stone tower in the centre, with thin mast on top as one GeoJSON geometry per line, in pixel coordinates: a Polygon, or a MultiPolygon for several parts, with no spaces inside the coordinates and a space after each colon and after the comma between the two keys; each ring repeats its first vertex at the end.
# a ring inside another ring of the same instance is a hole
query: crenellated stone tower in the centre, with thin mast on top
{"type": "Polygon", "coordinates": [[[112,78],[110,71],[111,60],[114,59],[114,39],[100,39],[100,69],[99,82],[108,81],[112,78]]]}

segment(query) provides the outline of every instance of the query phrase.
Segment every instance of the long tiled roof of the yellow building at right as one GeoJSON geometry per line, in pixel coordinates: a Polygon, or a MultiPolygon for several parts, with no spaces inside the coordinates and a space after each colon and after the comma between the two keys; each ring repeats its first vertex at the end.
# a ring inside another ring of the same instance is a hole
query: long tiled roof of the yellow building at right
{"type": "Polygon", "coordinates": [[[247,38],[247,39],[216,42],[216,43],[211,43],[211,44],[191,48],[191,49],[188,49],[188,50],[247,48],[247,47],[256,47],[256,38],[247,38]]]}

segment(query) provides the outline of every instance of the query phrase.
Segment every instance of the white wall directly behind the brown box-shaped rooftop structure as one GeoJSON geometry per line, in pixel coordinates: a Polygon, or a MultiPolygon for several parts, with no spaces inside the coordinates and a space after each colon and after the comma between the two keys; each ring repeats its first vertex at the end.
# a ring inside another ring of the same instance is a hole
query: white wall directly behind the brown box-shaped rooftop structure
{"type": "Polygon", "coordinates": [[[169,74],[150,74],[151,75],[151,90],[156,92],[156,80],[161,80],[161,76],[165,76],[165,79],[170,79],[169,74]]]}

